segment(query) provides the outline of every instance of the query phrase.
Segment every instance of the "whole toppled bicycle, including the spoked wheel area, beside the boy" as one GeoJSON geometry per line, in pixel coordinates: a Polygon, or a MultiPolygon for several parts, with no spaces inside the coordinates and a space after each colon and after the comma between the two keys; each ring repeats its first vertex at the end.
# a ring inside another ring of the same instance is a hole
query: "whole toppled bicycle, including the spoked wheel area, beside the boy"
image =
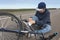
{"type": "MultiPolygon", "coordinates": [[[[35,40],[51,40],[54,36],[57,35],[57,33],[53,33],[52,35],[49,35],[48,37],[44,37],[43,33],[35,33],[34,30],[33,31],[25,31],[22,25],[22,18],[20,16],[20,19],[18,17],[16,17],[15,15],[11,14],[11,13],[7,13],[7,12],[0,12],[0,20],[2,20],[2,24],[0,27],[0,32],[2,34],[1,40],[25,40],[23,38],[23,36],[25,36],[25,34],[39,34],[41,35],[39,37],[39,39],[35,40]],[[14,26],[15,25],[15,26],[14,26]],[[9,35],[9,36],[7,36],[9,35]],[[14,37],[14,36],[15,37],[14,37]],[[14,37],[14,38],[13,38],[14,37]]],[[[28,40],[28,38],[27,38],[28,40]]],[[[30,40],[30,39],[29,39],[30,40]]]]}

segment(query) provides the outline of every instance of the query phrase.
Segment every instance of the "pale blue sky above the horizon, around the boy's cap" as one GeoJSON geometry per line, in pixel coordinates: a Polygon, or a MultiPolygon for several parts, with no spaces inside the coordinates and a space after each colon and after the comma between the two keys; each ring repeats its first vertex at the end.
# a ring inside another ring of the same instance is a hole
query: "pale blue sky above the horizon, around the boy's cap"
{"type": "Polygon", "coordinates": [[[37,8],[40,2],[45,2],[47,8],[60,8],[60,0],[0,0],[0,9],[37,8]]]}

